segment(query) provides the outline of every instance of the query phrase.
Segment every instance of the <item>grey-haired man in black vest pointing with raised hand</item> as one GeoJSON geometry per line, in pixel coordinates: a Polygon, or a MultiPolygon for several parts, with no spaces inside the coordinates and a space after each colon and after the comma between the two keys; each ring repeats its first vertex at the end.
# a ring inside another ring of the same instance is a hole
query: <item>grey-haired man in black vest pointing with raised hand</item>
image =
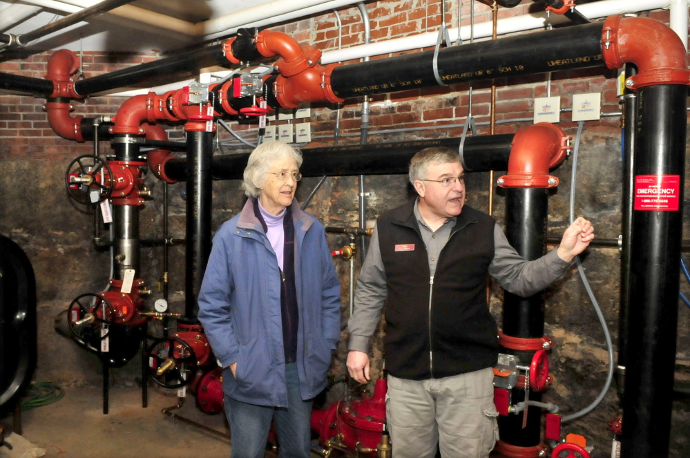
{"type": "Polygon", "coordinates": [[[369,341],[385,302],[387,424],[396,458],[488,457],[498,439],[493,403],[497,326],[486,277],[531,296],[594,238],[577,218],[557,249],[527,261],[493,218],[465,205],[457,151],[427,148],[410,162],[418,196],[376,222],[349,319],[347,369],[369,379],[369,341]]]}

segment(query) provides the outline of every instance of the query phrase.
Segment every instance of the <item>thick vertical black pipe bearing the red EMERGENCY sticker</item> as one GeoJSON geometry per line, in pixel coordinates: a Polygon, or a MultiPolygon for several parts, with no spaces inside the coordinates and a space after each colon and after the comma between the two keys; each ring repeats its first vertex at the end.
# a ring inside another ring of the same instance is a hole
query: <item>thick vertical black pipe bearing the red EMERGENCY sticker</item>
{"type": "Polygon", "coordinates": [[[686,110],[686,86],[662,84],[638,91],[629,356],[626,358],[625,428],[621,450],[625,457],[666,457],[669,452],[680,288],[686,110]],[[659,203],[665,209],[640,208],[649,194],[638,190],[653,186],[642,182],[644,175],[662,181],[662,188],[676,189],[675,198],[659,203]],[[672,179],[678,183],[671,183],[672,179]]]}

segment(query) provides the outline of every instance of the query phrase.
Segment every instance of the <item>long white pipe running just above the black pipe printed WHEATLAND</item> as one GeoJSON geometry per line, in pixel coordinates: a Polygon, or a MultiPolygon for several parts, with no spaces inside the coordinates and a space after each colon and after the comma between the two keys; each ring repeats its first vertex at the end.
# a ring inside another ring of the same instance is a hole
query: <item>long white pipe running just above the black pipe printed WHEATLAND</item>
{"type": "MultiPolygon", "coordinates": [[[[683,3],[687,5],[687,0],[683,3]]],[[[669,0],[603,0],[577,6],[577,10],[590,19],[617,15],[625,12],[656,10],[659,8],[669,8],[669,0]]],[[[686,19],[684,24],[687,30],[687,8],[685,12],[686,19]]],[[[570,19],[562,15],[550,15],[550,17],[546,17],[546,12],[509,17],[498,21],[497,34],[504,35],[512,32],[523,32],[524,30],[544,28],[550,24],[555,25],[568,21],[570,21],[570,19]]],[[[490,37],[492,35],[492,27],[492,21],[475,24],[474,37],[490,37]]],[[[458,37],[458,29],[450,28],[448,29],[448,34],[450,35],[450,41],[455,41],[458,37]]],[[[461,27],[460,35],[463,40],[469,39],[470,27],[461,27]]],[[[685,36],[687,37],[687,32],[685,36]]],[[[351,46],[343,50],[327,51],[321,56],[321,64],[330,64],[332,62],[360,59],[365,56],[376,56],[435,46],[437,38],[438,32],[427,32],[419,35],[412,35],[410,37],[378,41],[367,45],[351,46]]]]}

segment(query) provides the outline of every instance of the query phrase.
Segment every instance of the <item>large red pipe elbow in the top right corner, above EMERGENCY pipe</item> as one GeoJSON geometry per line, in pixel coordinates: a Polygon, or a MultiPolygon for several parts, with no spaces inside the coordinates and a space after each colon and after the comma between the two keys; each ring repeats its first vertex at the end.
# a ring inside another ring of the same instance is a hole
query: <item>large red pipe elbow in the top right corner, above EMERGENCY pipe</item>
{"type": "Polygon", "coordinates": [[[631,89],[655,84],[690,84],[687,52],[680,37],[648,17],[606,18],[602,28],[602,55],[608,68],[631,63],[638,74],[626,79],[631,89]]]}

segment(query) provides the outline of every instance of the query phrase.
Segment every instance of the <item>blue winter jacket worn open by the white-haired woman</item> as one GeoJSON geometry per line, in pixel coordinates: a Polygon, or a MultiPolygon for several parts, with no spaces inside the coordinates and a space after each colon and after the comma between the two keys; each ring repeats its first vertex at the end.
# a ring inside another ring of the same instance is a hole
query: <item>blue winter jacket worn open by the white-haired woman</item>
{"type": "MultiPolygon", "coordinates": [[[[341,287],[323,225],[293,201],[295,287],[299,309],[297,365],[302,399],[327,385],[341,332],[341,287]]],[[[278,259],[249,198],[225,222],[199,293],[198,318],[223,370],[223,392],[256,405],[287,406],[278,259]],[[237,363],[236,377],[229,366],[237,363]]]]}

